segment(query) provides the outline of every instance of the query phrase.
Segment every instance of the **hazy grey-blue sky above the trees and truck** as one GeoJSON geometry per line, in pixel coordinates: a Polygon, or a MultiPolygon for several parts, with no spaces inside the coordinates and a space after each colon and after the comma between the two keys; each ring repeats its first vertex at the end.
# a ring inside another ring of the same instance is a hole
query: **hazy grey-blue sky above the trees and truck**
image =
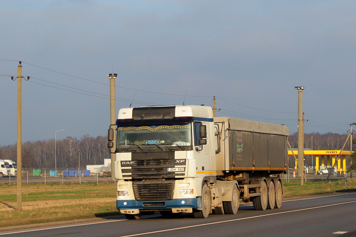
{"type": "Polygon", "coordinates": [[[120,108],[205,104],[216,116],[346,134],[355,116],[356,1],[0,1],[0,146],[106,136],[120,108]],[[58,131],[66,129],[64,131],[58,131]]]}

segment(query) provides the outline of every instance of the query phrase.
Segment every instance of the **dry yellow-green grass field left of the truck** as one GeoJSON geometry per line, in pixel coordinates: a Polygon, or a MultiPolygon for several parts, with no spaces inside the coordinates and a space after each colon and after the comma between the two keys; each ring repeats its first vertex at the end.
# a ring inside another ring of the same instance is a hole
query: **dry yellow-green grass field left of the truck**
{"type": "Polygon", "coordinates": [[[22,186],[16,211],[16,185],[0,185],[0,227],[117,215],[116,185],[30,184],[22,186]]]}

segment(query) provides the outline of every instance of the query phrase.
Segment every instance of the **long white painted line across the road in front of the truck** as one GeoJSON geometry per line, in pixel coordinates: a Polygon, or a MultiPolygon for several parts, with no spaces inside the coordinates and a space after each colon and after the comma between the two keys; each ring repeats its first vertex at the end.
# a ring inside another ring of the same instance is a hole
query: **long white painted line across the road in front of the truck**
{"type": "Polygon", "coordinates": [[[316,206],[314,208],[304,208],[304,209],[293,210],[293,211],[283,211],[283,212],[271,213],[271,214],[260,215],[260,216],[250,216],[250,217],[233,219],[233,220],[217,221],[217,222],[205,223],[205,224],[200,224],[200,225],[172,228],[172,229],[167,229],[167,230],[151,231],[151,232],[139,233],[139,234],[134,234],[134,235],[125,235],[125,236],[120,236],[120,237],[132,237],[132,236],[148,235],[148,234],[154,234],[154,233],[160,233],[160,232],[166,232],[166,231],[173,231],[173,230],[182,230],[182,229],[187,229],[187,228],[192,228],[192,227],[214,225],[214,224],[225,223],[225,222],[230,222],[230,221],[246,220],[246,219],[252,219],[252,218],[256,218],[256,217],[272,216],[272,215],[284,214],[284,213],[289,213],[289,212],[312,210],[312,209],[316,209],[316,208],[325,208],[325,207],[328,207],[328,206],[336,206],[336,205],[349,204],[349,203],[356,203],[356,201],[349,201],[349,202],[346,202],[346,203],[337,203],[337,204],[331,204],[331,205],[326,205],[326,206],[316,206]]]}

